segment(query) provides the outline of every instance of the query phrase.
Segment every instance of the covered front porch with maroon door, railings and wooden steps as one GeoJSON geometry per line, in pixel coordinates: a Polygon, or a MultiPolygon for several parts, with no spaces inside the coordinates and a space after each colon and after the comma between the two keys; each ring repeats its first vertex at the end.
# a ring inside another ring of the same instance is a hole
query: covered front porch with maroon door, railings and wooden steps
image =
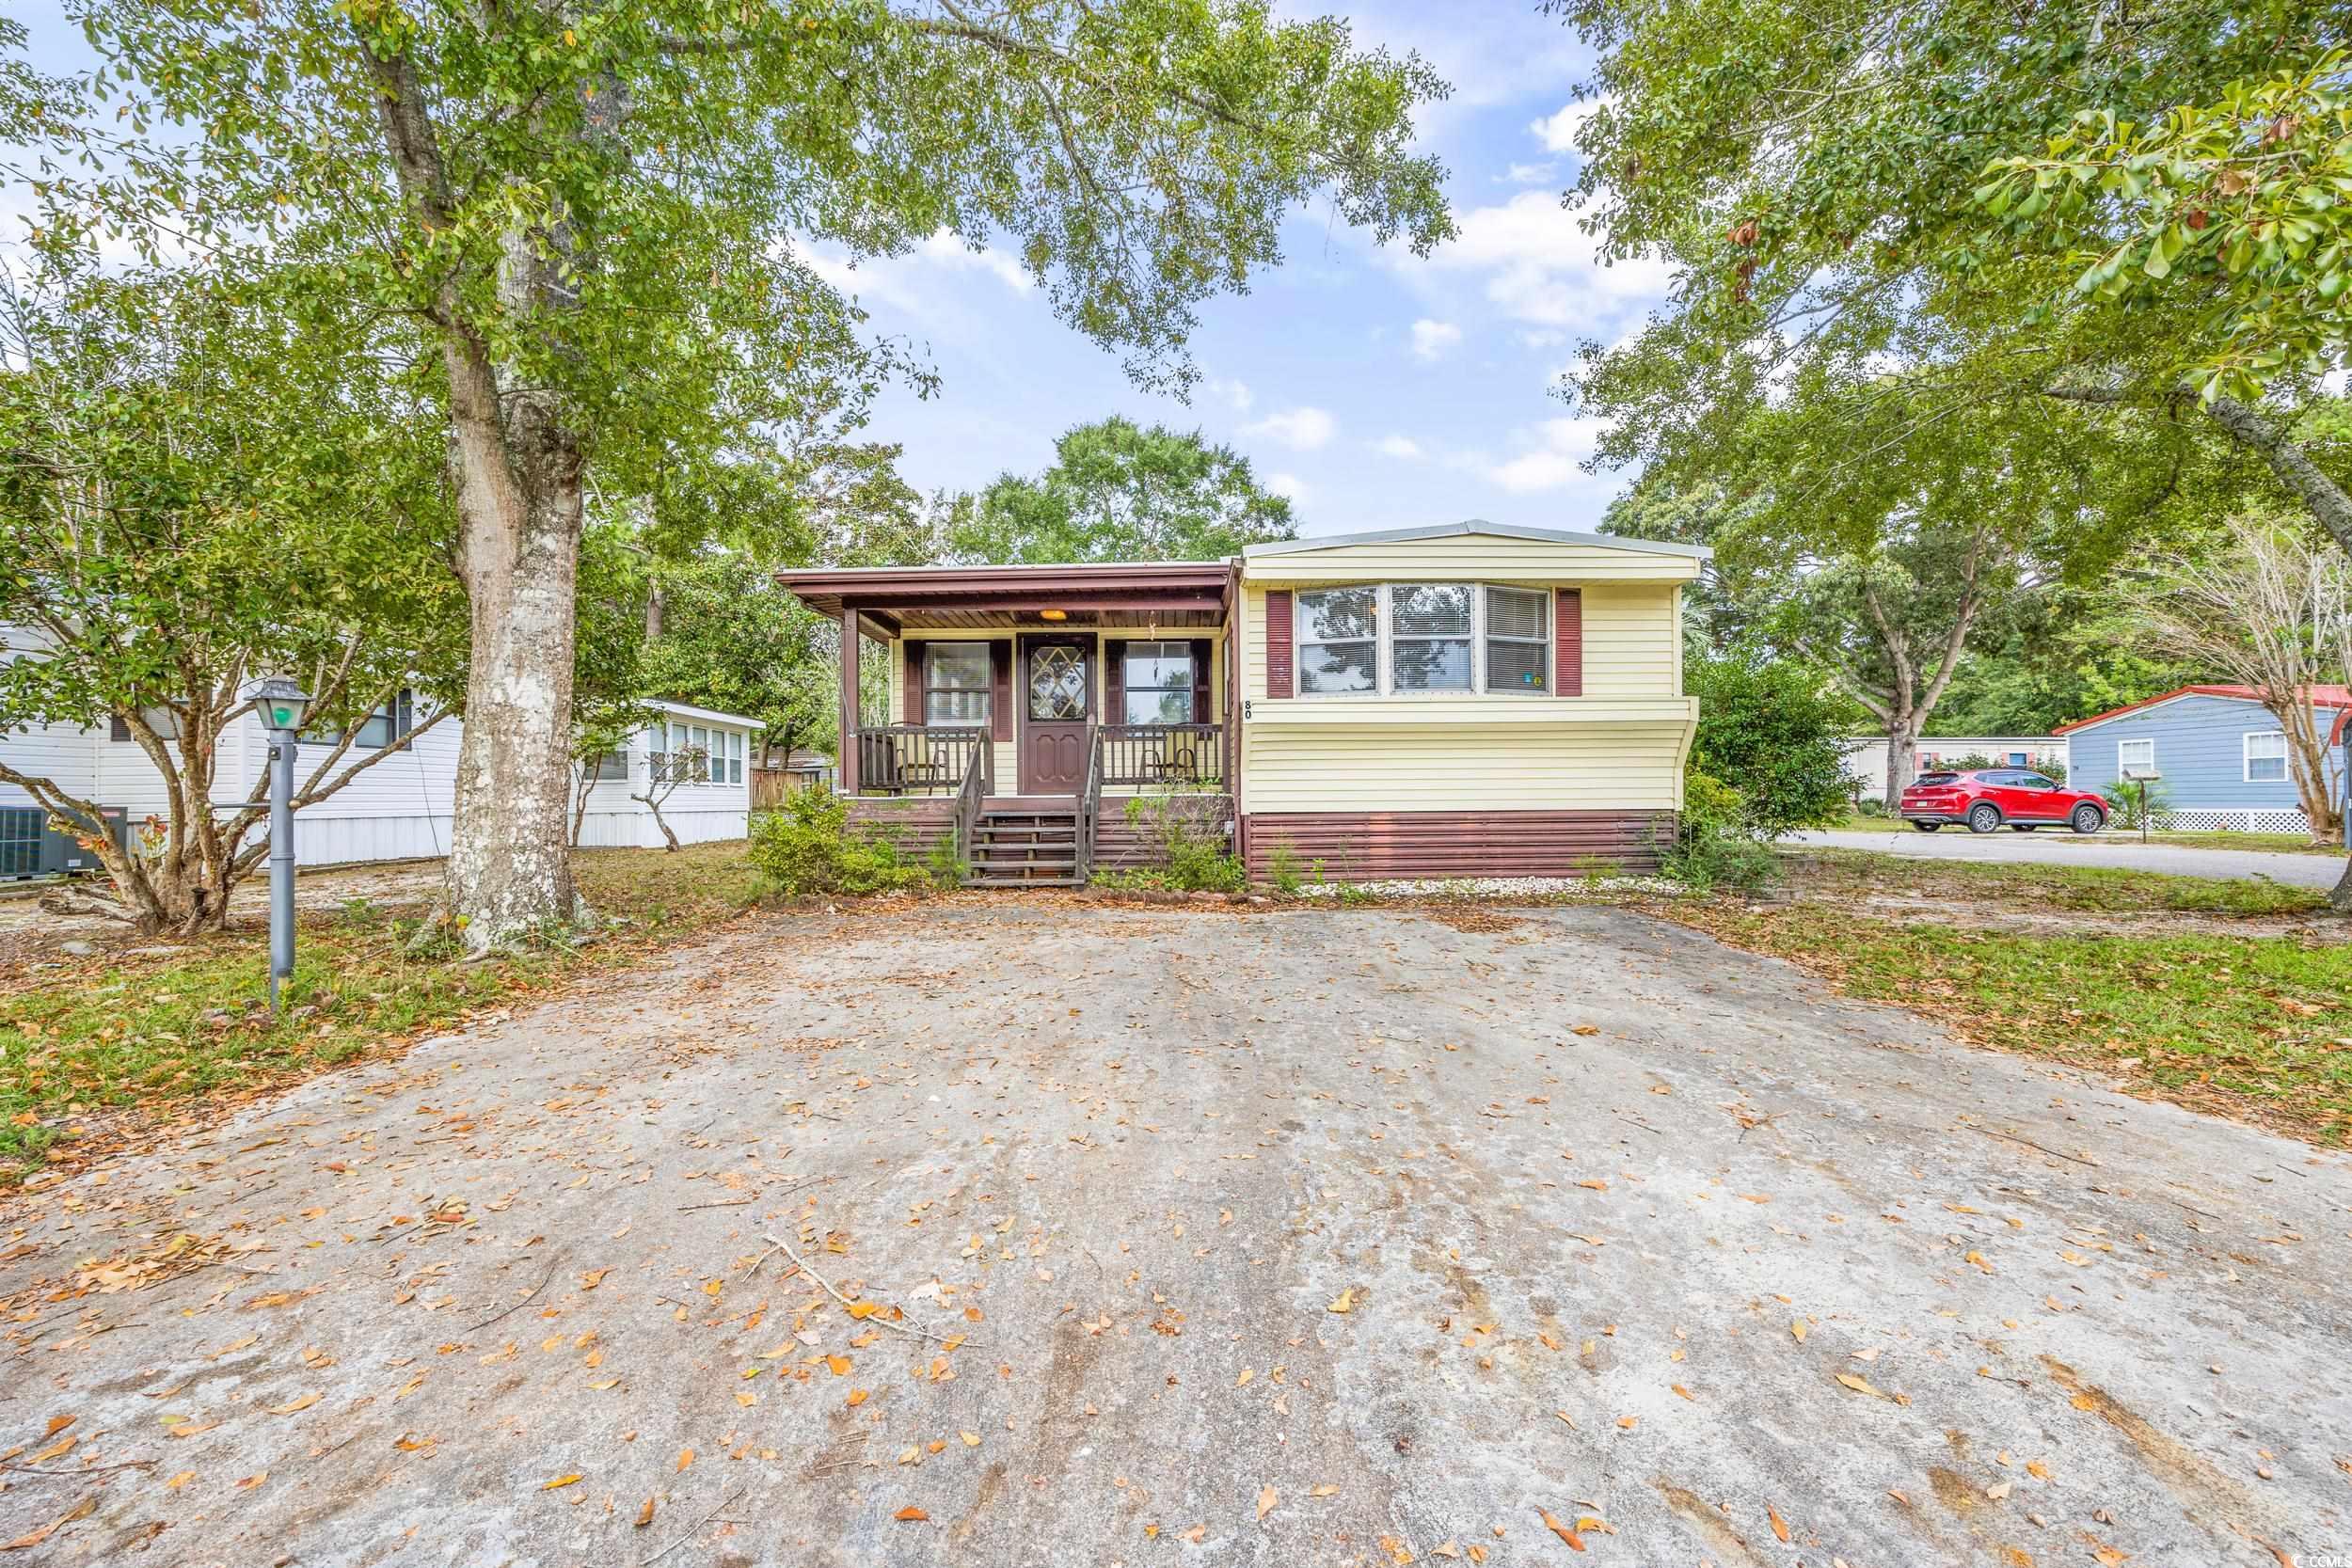
{"type": "Polygon", "coordinates": [[[842,628],[835,788],[854,820],[915,851],[953,837],[976,884],[1080,884],[1148,856],[1122,797],[1230,832],[1228,564],[781,581],[842,628]]]}

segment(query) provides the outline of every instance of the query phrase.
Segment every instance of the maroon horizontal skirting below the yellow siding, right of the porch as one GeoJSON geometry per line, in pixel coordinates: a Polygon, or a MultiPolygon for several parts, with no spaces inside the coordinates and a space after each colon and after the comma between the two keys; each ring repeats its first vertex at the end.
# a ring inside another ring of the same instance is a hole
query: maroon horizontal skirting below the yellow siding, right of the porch
{"type": "Polygon", "coordinates": [[[1251,877],[1277,844],[1298,872],[1331,882],[1385,877],[1578,877],[1592,858],[1656,870],[1672,811],[1251,811],[1242,818],[1251,877]]]}

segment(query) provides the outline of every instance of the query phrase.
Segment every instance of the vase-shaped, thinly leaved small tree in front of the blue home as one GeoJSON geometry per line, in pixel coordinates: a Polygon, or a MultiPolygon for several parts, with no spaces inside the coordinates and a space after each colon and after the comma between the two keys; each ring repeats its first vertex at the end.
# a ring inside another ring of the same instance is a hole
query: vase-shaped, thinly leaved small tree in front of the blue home
{"type": "Polygon", "coordinates": [[[2343,759],[2312,686],[2352,670],[2352,562],[2267,512],[2230,520],[2213,557],[2169,557],[2138,599],[2164,651],[2251,686],[2286,736],[2286,773],[2314,844],[2343,842],[2343,759]]]}

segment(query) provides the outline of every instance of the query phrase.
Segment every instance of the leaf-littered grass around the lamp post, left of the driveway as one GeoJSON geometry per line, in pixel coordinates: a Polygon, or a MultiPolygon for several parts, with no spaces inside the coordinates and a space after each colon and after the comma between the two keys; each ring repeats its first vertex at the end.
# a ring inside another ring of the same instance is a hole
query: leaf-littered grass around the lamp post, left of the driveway
{"type": "Polygon", "coordinates": [[[741,844],[696,844],[586,851],[579,882],[600,914],[621,917],[597,943],[482,964],[409,957],[414,917],[365,900],[306,910],[275,1020],[249,1006],[268,994],[259,926],[195,943],[188,957],[99,957],[0,980],[0,1180],[71,1157],[92,1112],[266,1088],[699,936],[743,907],[753,875],[741,844]]]}

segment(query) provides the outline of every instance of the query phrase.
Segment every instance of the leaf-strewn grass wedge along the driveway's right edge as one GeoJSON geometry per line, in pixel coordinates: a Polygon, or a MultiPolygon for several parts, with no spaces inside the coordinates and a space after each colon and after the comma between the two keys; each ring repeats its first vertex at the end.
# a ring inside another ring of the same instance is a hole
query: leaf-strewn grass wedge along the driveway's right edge
{"type": "Polygon", "coordinates": [[[1820,907],[1679,917],[1983,1044],[2103,1067],[2201,1110],[2352,1143],[2352,945],[2288,936],[2016,936],[1820,907]]]}

